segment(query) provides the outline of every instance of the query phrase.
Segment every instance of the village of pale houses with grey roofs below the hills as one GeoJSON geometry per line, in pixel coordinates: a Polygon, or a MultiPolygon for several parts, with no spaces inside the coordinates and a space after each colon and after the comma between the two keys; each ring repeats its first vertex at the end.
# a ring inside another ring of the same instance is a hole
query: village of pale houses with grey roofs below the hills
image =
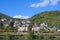
{"type": "MultiPolygon", "coordinates": [[[[10,23],[11,23],[12,19],[7,20],[5,18],[1,18],[0,22],[4,22],[3,26],[9,27],[10,23]]],[[[29,20],[22,20],[21,22],[19,22],[18,20],[15,20],[13,23],[13,27],[17,27],[18,32],[27,32],[28,31],[28,27],[29,27],[30,21],[29,20]]],[[[45,31],[54,31],[54,32],[59,32],[60,29],[59,27],[52,27],[49,26],[47,23],[41,23],[40,25],[37,25],[37,23],[34,23],[34,25],[32,26],[32,31],[40,31],[40,29],[44,29],[45,31]]]]}

